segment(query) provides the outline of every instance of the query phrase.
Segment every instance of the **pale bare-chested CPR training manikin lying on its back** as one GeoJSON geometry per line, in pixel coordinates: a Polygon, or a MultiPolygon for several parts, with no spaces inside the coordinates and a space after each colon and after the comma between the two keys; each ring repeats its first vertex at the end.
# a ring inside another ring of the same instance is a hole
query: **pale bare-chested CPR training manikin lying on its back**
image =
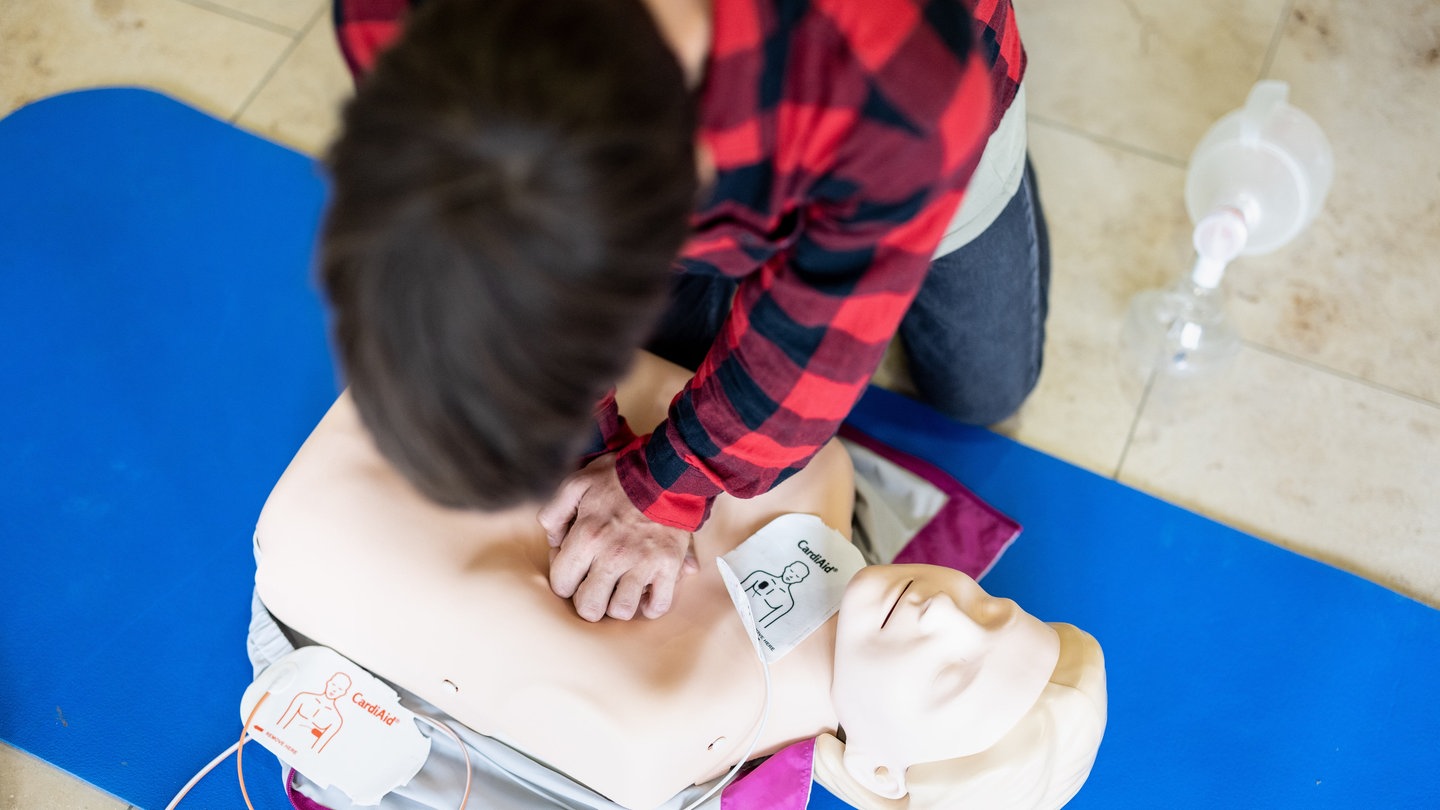
{"type": "MultiPolygon", "coordinates": [[[[681,375],[641,357],[618,392],[634,428],[660,421],[681,375]]],[[[668,614],[592,624],[550,591],[539,504],[435,506],[382,460],[341,396],[265,504],[256,591],[295,631],[616,803],[648,809],[733,765],[765,699],[714,558],[791,512],[848,530],[852,491],[848,458],[832,444],[765,496],[719,499],[696,533],[698,572],[678,584],[668,614]]],[[[802,579],[798,569],[773,574],[770,587],[802,579]]],[[[955,571],[865,568],[838,620],[770,666],[770,715],[753,755],[821,736],[818,775],[842,775],[832,778],[851,803],[899,807],[886,800],[914,788],[914,767],[939,773],[969,760],[973,770],[1048,705],[1061,637],[955,571]]],[[[1099,696],[1103,726],[1103,676],[1099,696]]],[[[1089,757],[1097,744],[1096,731],[1089,757]]]]}

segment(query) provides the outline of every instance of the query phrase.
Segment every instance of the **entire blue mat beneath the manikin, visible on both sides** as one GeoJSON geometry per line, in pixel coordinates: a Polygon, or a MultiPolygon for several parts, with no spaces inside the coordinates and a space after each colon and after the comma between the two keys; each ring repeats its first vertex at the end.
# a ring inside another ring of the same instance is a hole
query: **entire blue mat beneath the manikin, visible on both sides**
{"type": "MultiPolygon", "coordinates": [[[[144,91],[0,121],[0,738],[147,810],[239,734],[251,530],[337,391],[323,196],[144,91]]],[[[883,391],[852,422],[1020,520],[986,588],[1104,646],[1073,807],[1440,807],[1440,613],[883,391]]],[[[235,806],[226,762],[181,810],[235,806]]]]}

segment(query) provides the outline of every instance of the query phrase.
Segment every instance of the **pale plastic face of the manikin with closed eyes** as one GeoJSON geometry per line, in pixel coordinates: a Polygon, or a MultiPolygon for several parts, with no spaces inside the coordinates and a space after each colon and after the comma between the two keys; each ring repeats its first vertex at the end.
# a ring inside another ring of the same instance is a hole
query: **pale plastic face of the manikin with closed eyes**
{"type": "Polygon", "coordinates": [[[909,765],[984,751],[1034,705],[1058,654],[1051,627],[959,571],[864,568],[835,640],[847,757],[854,748],[903,778],[909,765]]]}

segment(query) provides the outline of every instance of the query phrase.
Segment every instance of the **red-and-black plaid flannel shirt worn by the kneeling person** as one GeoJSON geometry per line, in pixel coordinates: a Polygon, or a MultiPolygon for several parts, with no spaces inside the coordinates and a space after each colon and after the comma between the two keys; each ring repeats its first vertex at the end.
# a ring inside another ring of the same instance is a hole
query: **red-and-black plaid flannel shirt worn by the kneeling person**
{"type": "MultiPolygon", "coordinates": [[[[336,0],[357,75],[406,0],[336,0]]],[[[1008,0],[714,0],[700,141],[716,180],[677,271],[739,280],[714,346],[652,434],[613,395],[618,453],[652,520],[698,528],[835,435],[924,280],[1025,53],[1008,0]]]]}

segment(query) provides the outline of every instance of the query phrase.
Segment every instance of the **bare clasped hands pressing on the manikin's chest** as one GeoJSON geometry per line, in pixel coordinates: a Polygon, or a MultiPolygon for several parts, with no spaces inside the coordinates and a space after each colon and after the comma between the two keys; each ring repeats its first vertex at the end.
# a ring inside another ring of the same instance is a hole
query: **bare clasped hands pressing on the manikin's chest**
{"type": "Polygon", "coordinates": [[[550,589],[586,621],[670,610],[681,572],[698,566],[693,535],[655,523],[631,503],[615,454],[569,476],[537,516],[550,540],[550,589]]]}

